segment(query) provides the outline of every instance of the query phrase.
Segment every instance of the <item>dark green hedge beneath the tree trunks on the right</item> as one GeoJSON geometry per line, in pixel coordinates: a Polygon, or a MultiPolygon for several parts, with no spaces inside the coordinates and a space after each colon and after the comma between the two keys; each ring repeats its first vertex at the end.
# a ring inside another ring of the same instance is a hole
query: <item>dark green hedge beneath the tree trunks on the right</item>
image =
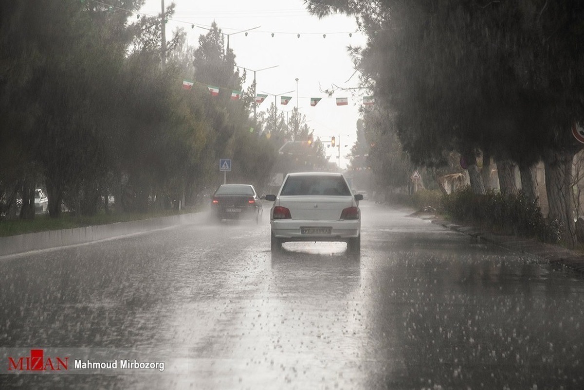
{"type": "Polygon", "coordinates": [[[537,237],[550,243],[562,239],[561,222],[545,218],[540,207],[523,193],[503,195],[490,191],[477,195],[465,187],[443,198],[443,210],[455,221],[506,234],[537,237]]]}

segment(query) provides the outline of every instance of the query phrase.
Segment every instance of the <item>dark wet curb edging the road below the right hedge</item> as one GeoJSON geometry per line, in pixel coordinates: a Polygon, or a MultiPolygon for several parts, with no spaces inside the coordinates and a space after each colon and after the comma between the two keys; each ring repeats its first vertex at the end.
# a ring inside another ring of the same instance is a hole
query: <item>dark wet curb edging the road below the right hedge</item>
{"type": "MultiPolygon", "coordinates": [[[[436,216],[434,216],[434,218],[436,218],[436,216]]],[[[477,242],[484,241],[494,243],[495,245],[502,246],[513,252],[537,256],[550,263],[562,264],[563,266],[570,267],[576,271],[584,272],[584,255],[559,245],[543,243],[529,238],[493,234],[492,232],[481,231],[474,227],[453,224],[450,221],[439,218],[432,219],[432,223],[466,234],[470,236],[472,240],[476,240],[477,242]]]]}

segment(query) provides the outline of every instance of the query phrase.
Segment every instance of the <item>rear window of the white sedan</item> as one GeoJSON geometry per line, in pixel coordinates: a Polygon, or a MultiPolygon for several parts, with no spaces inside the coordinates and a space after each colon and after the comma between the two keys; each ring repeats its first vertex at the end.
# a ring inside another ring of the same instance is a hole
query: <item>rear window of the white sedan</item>
{"type": "Polygon", "coordinates": [[[288,176],[280,196],[322,195],[351,196],[342,176],[288,176]]]}

